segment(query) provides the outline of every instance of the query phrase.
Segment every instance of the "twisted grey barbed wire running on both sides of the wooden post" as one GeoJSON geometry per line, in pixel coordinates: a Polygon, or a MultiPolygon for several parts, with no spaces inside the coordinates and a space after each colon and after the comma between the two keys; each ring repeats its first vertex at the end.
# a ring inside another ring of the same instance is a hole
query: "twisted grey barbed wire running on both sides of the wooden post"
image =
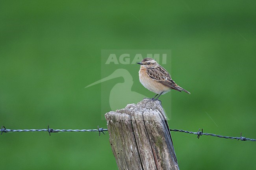
{"type": "MultiPolygon", "coordinates": [[[[256,141],[256,139],[242,137],[242,133],[240,133],[240,137],[229,137],[229,136],[215,135],[213,133],[203,133],[203,129],[201,131],[199,129],[197,132],[189,132],[187,130],[178,130],[178,129],[169,129],[169,130],[173,131],[173,132],[183,132],[183,133],[195,134],[195,135],[197,135],[198,139],[202,135],[208,135],[208,136],[210,135],[210,136],[220,137],[220,138],[224,138],[224,139],[237,139],[237,140],[241,140],[241,141],[256,141]]],[[[5,126],[1,127],[1,135],[2,135],[2,133],[7,133],[7,132],[48,132],[49,135],[51,135],[51,133],[57,133],[57,132],[99,132],[99,136],[100,136],[100,133],[103,133],[105,135],[104,131],[108,131],[108,129],[99,128],[99,126],[98,126],[98,129],[51,129],[48,126],[47,129],[17,129],[17,130],[6,129],[5,126]]]]}

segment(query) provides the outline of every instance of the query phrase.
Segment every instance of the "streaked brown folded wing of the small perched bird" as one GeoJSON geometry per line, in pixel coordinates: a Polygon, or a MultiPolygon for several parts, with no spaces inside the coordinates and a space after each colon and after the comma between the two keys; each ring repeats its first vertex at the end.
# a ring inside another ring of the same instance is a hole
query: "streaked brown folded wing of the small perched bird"
{"type": "Polygon", "coordinates": [[[147,68],[147,74],[150,78],[160,82],[161,84],[180,91],[178,85],[173,81],[171,75],[162,67],[147,68]]]}

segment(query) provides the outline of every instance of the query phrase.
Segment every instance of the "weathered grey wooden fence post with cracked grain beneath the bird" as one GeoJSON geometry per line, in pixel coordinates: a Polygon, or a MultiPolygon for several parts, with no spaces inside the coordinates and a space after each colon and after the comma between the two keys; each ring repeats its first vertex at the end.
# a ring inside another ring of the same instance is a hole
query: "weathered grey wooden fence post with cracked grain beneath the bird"
{"type": "Polygon", "coordinates": [[[160,101],[144,99],[105,117],[119,170],[179,170],[160,101]]]}

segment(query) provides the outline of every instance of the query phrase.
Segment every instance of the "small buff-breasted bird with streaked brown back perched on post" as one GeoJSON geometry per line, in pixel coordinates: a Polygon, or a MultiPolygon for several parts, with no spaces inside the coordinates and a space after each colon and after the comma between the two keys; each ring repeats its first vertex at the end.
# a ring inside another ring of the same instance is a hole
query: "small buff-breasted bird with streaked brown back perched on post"
{"type": "Polygon", "coordinates": [[[189,91],[178,86],[178,84],[173,81],[168,71],[160,66],[156,60],[144,58],[141,62],[137,62],[137,64],[141,65],[139,69],[139,81],[145,88],[156,93],[152,100],[158,100],[162,94],[169,92],[171,89],[180,92],[185,91],[190,94],[189,91]]]}

